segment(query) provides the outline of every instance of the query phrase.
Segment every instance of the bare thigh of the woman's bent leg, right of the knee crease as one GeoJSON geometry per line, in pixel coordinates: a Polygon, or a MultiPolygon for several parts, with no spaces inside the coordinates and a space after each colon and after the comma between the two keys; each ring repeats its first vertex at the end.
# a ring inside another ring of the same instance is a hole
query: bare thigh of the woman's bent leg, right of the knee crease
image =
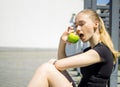
{"type": "Polygon", "coordinates": [[[54,65],[49,65],[48,82],[51,87],[73,87],[70,82],[54,65]]]}

